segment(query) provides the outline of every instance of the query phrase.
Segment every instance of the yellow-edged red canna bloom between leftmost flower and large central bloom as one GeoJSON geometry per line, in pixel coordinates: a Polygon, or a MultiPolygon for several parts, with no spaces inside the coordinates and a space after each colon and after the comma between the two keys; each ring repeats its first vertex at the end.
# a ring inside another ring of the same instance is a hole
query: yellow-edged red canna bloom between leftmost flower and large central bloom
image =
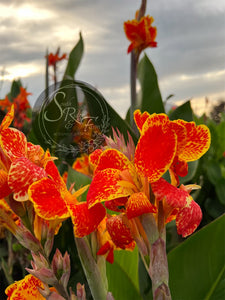
{"type": "Polygon", "coordinates": [[[86,202],[77,200],[88,186],[71,194],[53,161],[47,162],[45,171],[48,177],[34,182],[28,190],[36,214],[46,220],[71,217],[76,237],[94,231],[105,216],[105,208],[99,203],[89,210],[86,202]]]}

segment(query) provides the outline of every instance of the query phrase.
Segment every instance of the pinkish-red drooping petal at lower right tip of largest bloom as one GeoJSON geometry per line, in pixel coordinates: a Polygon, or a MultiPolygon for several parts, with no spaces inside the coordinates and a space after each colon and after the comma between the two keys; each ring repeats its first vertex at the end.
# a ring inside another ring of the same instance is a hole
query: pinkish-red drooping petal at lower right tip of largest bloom
{"type": "Polygon", "coordinates": [[[187,205],[179,210],[176,217],[177,233],[183,237],[192,234],[199,226],[201,219],[200,206],[189,196],[187,205]]]}

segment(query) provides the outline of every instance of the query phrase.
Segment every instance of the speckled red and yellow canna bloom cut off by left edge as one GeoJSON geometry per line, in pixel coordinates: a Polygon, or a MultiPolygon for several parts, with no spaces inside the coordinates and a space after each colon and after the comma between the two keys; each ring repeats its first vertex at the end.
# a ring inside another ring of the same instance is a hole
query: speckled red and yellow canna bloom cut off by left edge
{"type": "Polygon", "coordinates": [[[15,200],[26,201],[29,185],[47,176],[43,166],[52,158],[40,146],[28,143],[21,131],[9,127],[13,117],[14,106],[0,126],[0,198],[13,193],[15,200]]]}

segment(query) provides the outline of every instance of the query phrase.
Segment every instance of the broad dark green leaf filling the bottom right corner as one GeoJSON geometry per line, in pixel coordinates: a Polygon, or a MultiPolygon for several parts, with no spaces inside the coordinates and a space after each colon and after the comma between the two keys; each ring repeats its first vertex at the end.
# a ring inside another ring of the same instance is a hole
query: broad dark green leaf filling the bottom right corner
{"type": "Polygon", "coordinates": [[[173,300],[225,299],[225,215],[168,254],[173,300]]]}

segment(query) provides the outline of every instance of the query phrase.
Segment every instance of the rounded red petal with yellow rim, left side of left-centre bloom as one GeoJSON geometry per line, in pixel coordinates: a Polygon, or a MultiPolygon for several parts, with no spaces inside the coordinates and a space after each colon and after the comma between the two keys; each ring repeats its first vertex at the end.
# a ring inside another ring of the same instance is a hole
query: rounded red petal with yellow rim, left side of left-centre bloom
{"type": "MultiPolygon", "coordinates": [[[[58,186],[50,178],[33,183],[28,190],[36,213],[43,219],[67,218],[69,212],[58,186]]],[[[64,195],[65,196],[65,195],[64,195]]]]}

